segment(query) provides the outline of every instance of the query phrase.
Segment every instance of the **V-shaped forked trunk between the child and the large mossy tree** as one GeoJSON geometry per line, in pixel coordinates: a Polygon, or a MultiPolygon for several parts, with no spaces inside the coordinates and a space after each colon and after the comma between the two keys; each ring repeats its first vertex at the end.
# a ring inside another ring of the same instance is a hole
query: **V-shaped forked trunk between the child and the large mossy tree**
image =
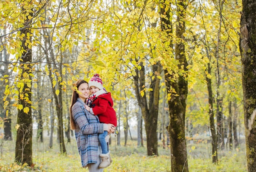
{"type": "Polygon", "coordinates": [[[152,73],[156,76],[154,75],[155,78],[151,80],[150,88],[152,91],[149,93],[149,102],[147,102],[147,96],[141,96],[141,92],[144,92],[145,87],[145,67],[142,65],[142,63],[139,65],[141,66],[141,69],[135,69],[137,75],[133,76],[135,83],[135,94],[144,118],[148,156],[158,156],[157,116],[159,105],[159,78],[157,78],[157,76],[161,73],[161,68],[159,67],[158,63],[152,66],[152,73]]]}

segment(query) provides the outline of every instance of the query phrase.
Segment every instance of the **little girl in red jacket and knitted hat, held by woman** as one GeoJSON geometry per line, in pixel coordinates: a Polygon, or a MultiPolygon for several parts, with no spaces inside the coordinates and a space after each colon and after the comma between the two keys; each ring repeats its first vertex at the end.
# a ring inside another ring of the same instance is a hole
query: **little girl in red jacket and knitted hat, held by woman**
{"type": "MultiPolygon", "coordinates": [[[[102,80],[99,78],[99,74],[94,74],[94,76],[89,81],[90,93],[92,94],[90,98],[87,99],[85,108],[94,115],[98,115],[100,123],[113,124],[117,126],[117,116],[113,109],[113,99],[111,93],[107,92],[103,88],[102,80]]],[[[102,154],[101,164],[99,168],[107,168],[111,161],[108,152],[108,145],[106,143],[106,136],[108,132],[104,131],[103,134],[99,134],[99,142],[101,143],[102,154]]]]}

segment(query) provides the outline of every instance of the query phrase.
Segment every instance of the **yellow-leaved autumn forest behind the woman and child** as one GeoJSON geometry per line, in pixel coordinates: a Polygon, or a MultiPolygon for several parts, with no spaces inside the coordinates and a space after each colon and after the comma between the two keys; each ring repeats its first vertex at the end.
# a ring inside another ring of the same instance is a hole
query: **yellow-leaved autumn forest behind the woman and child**
{"type": "Polygon", "coordinates": [[[222,150],[245,156],[241,1],[7,0],[0,11],[0,146],[15,140],[18,165],[34,166],[38,143],[69,154],[72,84],[95,73],[115,102],[117,145],[135,126],[144,154],[168,150],[166,171],[189,171],[194,143],[211,144],[213,164],[222,150]]]}

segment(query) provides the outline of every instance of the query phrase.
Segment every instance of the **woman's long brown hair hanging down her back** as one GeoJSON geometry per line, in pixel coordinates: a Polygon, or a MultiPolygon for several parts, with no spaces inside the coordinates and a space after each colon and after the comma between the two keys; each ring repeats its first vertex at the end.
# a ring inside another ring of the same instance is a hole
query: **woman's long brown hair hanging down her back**
{"type": "Polygon", "coordinates": [[[79,80],[77,80],[76,83],[74,83],[74,85],[73,85],[75,89],[73,89],[73,93],[72,93],[72,97],[71,97],[71,103],[70,103],[70,129],[71,129],[71,130],[74,130],[74,129],[75,129],[75,126],[76,126],[76,123],[75,123],[75,121],[74,121],[73,114],[72,114],[72,107],[73,107],[73,105],[76,103],[77,98],[79,97],[79,96],[78,96],[78,93],[76,92],[76,90],[77,90],[77,89],[79,88],[79,86],[80,86],[81,84],[83,84],[83,83],[87,83],[87,84],[88,84],[88,82],[86,82],[85,80],[79,79],[79,80]]]}

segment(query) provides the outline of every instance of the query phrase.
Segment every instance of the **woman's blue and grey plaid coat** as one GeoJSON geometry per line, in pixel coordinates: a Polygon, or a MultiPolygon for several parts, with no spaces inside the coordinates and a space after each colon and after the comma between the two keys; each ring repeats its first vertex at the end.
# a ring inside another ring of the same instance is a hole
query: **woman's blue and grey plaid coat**
{"type": "Polygon", "coordinates": [[[75,136],[82,167],[89,163],[97,163],[99,133],[103,133],[103,124],[99,123],[98,116],[88,112],[85,103],[78,98],[72,106],[72,114],[76,123],[75,136]]]}

